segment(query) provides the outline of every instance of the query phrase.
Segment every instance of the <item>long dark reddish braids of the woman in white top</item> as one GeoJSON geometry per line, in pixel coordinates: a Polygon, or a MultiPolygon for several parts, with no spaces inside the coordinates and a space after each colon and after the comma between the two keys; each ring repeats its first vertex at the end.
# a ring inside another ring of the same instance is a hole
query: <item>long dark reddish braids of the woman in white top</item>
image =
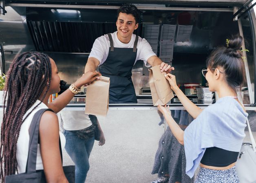
{"type": "MultiPolygon", "coordinates": [[[[26,117],[26,111],[39,99],[44,100],[51,83],[51,62],[49,57],[40,52],[24,52],[14,59],[7,74],[4,96],[4,116],[1,126],[0,179],[4,183],[7,175],[17,170],[17,141],[20,127],[26,117]],[[4,168],[3,168],[4,166],[4,168]]],[[[41,102],[40,102],[41,103],[41,102]]]]}

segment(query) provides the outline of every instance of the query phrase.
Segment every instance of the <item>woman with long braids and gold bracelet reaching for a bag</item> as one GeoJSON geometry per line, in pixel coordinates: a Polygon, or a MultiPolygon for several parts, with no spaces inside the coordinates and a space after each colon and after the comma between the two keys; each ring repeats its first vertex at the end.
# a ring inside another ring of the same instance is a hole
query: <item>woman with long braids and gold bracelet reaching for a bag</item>
{"type": "MultiPolygon", "coordinates": [[[[60,77],[53,59],[40,52],[24,52],[14,59],[7,74],[4,116],[1,126],[0,182],[7,175],[24,173],[29,152],[29,126],[40,109],[62,110],[73,98],[75,90],[97,79],[99,72],[87,72],[48,104],[51,94],[60,91],[60,77]]],[[[47,182],[68,182],[59,149],[59,124],[52,111],[40,120],[36,170],[44,169],[47,182]]]]}

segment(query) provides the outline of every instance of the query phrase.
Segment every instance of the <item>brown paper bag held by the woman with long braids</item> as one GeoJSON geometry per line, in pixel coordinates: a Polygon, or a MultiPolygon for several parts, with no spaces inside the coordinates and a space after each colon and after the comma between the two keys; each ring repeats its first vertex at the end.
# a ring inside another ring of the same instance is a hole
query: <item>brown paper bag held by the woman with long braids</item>
{"type": "Polygon", "coordinates": [[[109,103],[110,78],[98,76],[86,89],[85,113],[106,116],[109,103]]]}

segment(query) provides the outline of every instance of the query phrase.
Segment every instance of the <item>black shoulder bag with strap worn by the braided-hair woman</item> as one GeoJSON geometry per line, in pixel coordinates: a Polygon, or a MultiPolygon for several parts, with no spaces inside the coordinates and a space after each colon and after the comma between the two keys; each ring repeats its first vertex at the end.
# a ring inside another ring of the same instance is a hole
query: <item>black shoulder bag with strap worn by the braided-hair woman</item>
{"type": "MultiPolygon", "coordinates": [[[[40,109],[35,113],[29,127],[29,155],[26,163],[26,172],[6,176],[5,183],[46,183],[44,170],[35,170],[38,151],[39,124],[44,111],[52,110],[40,109]]],[[[62,159],[61,144],[60,154],[62,159]]],[[[75,166],[64,166],[63,170],[68,182],[75,183],[75,166]]]]}

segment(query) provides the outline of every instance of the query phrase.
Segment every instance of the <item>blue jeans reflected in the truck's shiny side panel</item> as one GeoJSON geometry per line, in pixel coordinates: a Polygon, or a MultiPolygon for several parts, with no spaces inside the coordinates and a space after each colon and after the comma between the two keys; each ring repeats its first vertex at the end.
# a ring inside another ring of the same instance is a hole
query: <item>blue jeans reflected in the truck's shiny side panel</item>
{"type": "Polygon", "coordinates": [[[75,183],[84,183],[90,168],[89,156],[93,149],[94,137],[83,140],[68,130],[64,131],[64,135],[66,137],[66,152],[75,163],[75,183]]]}

